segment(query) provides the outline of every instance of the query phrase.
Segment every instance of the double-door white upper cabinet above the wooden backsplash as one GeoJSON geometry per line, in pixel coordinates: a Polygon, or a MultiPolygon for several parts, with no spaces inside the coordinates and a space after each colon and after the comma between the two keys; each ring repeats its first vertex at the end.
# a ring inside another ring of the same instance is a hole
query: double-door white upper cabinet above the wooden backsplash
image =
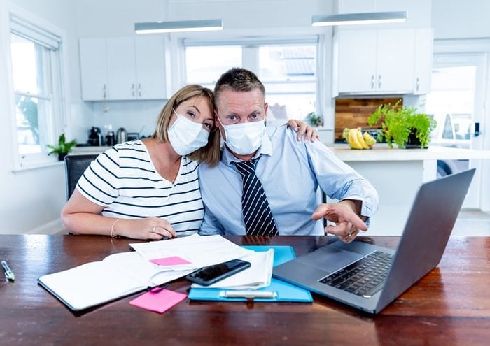
{"type": "Polygon", "coordinates": [[[339,31],[337,65],[339,94],[412,93],[415,30],[339,31]]]}

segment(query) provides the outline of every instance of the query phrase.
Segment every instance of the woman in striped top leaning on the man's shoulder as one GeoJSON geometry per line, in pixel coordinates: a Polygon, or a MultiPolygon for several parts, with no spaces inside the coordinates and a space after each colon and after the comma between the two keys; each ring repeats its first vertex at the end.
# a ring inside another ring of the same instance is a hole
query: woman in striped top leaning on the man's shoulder
{"type": "MultiPolygon", "coordinates": [[[[100,154],[62,210],[65,228],[148,240],[196,233],[204,215],[197,166],[220,159],[213,102],[211,90],[183,87],[165,104],[151,138],[100,154]]],[[[300,125],[298,138],[306,130],[301,122],[288,124],[300,125]]]]}

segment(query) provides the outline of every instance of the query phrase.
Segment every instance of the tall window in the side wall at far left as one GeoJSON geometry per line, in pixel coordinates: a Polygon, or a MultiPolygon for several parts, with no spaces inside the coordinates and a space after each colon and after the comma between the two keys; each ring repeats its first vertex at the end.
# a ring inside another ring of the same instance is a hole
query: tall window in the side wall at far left
{"type": "Polygon", "coordinates": [[[53,161],[46,145],[56,143],[62,119],[61,38],[11,15],[10,55],[15,102],[18,166],[53,161]]]}

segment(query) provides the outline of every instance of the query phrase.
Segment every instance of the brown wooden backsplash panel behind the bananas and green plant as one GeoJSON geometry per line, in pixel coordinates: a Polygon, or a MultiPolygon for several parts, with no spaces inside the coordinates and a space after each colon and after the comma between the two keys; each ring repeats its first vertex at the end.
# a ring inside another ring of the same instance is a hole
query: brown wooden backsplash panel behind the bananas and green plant
{"type": "MultiPolygon", "coordinates": [[[[394,105],[400,98],[390,99],[336,99],[335,100],[335,139],[342,138],[342,131],[346,127],[361,127],[363,129],[377,129],[368,127],[367,118],[374,113],[379,105],[391,103],[394,105]]],[[[402,106],[403,100],[400,102],[402,106]]]]}

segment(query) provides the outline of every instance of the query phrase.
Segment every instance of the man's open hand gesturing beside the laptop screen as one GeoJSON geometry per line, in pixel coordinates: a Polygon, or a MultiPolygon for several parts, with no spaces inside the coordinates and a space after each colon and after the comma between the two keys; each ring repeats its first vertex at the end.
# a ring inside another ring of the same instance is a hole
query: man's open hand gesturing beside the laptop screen
{"type": "Polygon", "coordinates": [[[321,204],[316,208],[311,219],[318,220],[325,217],[335,225],[325,227],[325,234],[334,234],[344,243],[351,243],[359,231],[367,231],[367,226],[356,213],[356,203],[345,200],[338,203],[321,204]]]}

